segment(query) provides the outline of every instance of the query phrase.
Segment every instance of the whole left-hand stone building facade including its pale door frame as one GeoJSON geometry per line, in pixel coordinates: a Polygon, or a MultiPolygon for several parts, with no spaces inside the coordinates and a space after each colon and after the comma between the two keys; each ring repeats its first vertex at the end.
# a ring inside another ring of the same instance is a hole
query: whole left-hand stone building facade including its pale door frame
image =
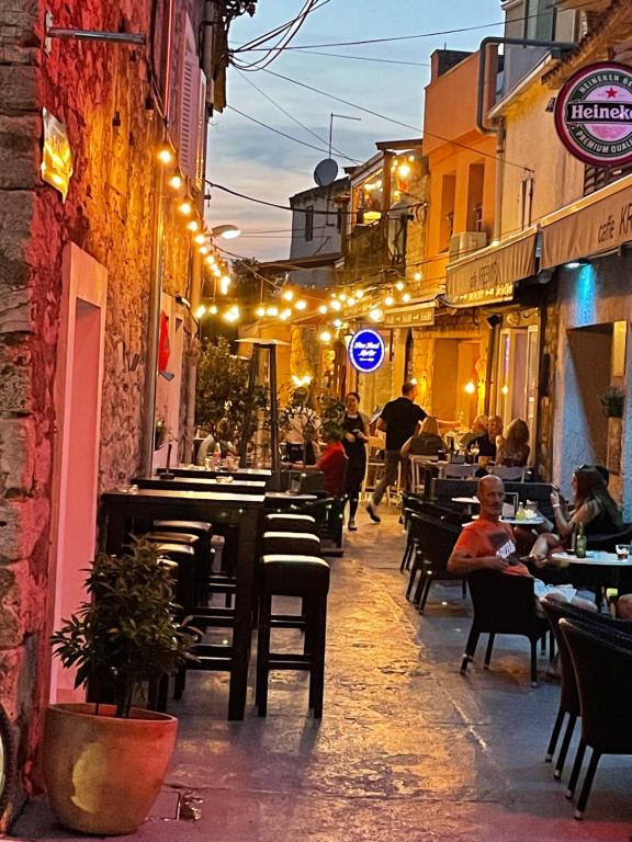
{"type": "MultiPolygon", "coordinates": [[[[155,376],[148,368],[148,325],[157,263],[171,346],[177,341],[182,352],[176,365],[191,341],[188,312],[176,296],[194,294],[192,238],[174,201],[161,192],[157,151],[168,141],[182,168],[179,84],[185,52],[201,64],[204,5],[200,0],[0,2],[0,703],[18,754],[4,823],[40,785],[43,709],[55,699],[55,687],[57,697],[69,693],[55,679],[48,645],[60,612],[77,607],[59,593],[78,573],[60,567],[61,515],[68,545],[72,514],[82,511],[82,489],[67,479],[65,459],[74,458],[74,448],[81,454],[93,446],[88,488],[94,515],[98,493],[140,467],[143,419],[153,411],[146,406],[146,378],[155,376]],[[56,27],[140,33],[146,43],[53,38],[47,45],[47,11],[56,27]],[[65,124],[72,151],[66,201],[41,177],[43,109],[65,124]],[[68,283],[88,292],[66,312],[68,283]],[[83,382],[72,369],[72,371],[61,376],[60,361],[70,357],[75,368],[94,357],[94,377],[83,382]],[[72,425],[66,419],[64,426],[69,407],[72,425]],[[95,430],[87,444],[88,410],[94,408],[95,430]]],[[[218,0],[219,22],[226,20],[225,7],[218,0]]],[[[214,68],[223,95],[225,68],[214,68]]],[[[203,132],[198,143],[204,150],[213,101],[204,102],[201,89],[198,94],[203,132]]],[[[185,179],[184,185],[201,214],[203,183],[185,179]]],[[[176,418],[187,401],[187,378],[177,383],[183,386],[172,395],[176,418]]],[[[72,476],[80,471],[76,466],[72,476]]],[[[93,543],[81,548],[88,562],[93,553],[93,543]]],[[[80,583],[71,582],[70,591],[75,599],[80,583]]]]}

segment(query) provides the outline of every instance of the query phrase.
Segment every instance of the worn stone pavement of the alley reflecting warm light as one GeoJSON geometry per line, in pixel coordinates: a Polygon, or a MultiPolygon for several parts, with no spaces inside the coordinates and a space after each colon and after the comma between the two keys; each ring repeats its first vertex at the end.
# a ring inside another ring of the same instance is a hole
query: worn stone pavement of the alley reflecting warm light
{"type": "MultiPolygon", "coordinates": [[[[398,572],[403,530],[382,509],[380,525],[362,513],[331,561],[321,722],[306,716],[303,674],[273,675],[266,719],[249,705],[245,721],[228,722],[227,678],[191,673],[172,704],[180,735],[165,790],[124,839],[631,842],[632,760],[601,760],[575,821],[543,762],[558,687],[530,686],[519,638],[497,639],[489,672],[479,644],[467,678],[459,674],[469,603],[460,585],[438,584],[426,615],[415,612],[398,572]]],[[[56,827],[44,801],[12,838],[83,839],[56,827]]]]}

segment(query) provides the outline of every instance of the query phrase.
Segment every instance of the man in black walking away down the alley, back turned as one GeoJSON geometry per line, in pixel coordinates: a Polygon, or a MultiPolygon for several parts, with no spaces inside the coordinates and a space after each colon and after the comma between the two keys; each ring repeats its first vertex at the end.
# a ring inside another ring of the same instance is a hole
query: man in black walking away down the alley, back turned
{"type": "Polygon", "coordinates": [[[418,432],[419,424],[426,418],[426,412],[415,403],[417,384],[405,383],[402,386],[402,397],[390,400],[377,419],[377,430],[386,431],[386,454],[384,457],[384,477],[375,486],[371,502],[366,504],[369,516],[374,523],[380,523],[376,512],[384,492],[397,480],[397,468],[402,462],[402,446],[418,432]]]}

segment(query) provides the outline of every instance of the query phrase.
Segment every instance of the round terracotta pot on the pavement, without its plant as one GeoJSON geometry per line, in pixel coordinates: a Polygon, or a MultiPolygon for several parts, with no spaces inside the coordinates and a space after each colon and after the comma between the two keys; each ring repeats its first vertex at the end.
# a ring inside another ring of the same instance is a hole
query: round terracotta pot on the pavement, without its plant
{"type": "Polygon", "coordinates": [[[162,786],[178,720],[112,705],[52,705],[44,727],[44,780],[61,824],[108,837],[134,833],[162,786]]]}

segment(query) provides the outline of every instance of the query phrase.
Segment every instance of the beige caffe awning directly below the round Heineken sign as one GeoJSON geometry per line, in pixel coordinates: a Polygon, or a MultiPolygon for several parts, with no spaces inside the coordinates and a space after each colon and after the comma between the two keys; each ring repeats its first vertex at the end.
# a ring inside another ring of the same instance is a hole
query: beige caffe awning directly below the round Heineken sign
{"type": "Polygon", "coordinates": [[[541,269],[612,251],[632,240],[632,175],[544,216],[541,269]]]}

